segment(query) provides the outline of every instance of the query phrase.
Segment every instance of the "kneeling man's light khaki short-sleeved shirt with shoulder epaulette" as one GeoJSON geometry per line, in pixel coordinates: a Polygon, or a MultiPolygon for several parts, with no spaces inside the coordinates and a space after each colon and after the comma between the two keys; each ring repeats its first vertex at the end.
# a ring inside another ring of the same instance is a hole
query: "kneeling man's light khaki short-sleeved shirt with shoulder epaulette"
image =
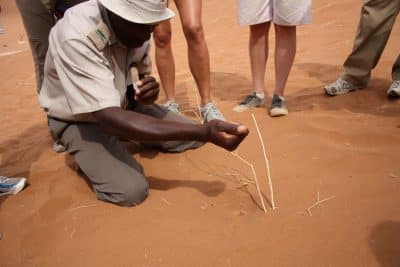
{"type": "Polygon", "coordinates": [[[70,8],[51,30],[39,94],[48,116],[94,121],[91,112],[126,105],[130,68],[151,72],[149,41],[128,49],[118,42],[97,0],[70,8]]]}

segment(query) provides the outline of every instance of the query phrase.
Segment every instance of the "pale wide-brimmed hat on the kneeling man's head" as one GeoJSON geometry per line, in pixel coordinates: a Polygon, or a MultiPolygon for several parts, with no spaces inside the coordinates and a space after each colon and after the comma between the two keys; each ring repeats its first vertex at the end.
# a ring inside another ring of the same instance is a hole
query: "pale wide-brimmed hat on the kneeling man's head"
{"type": "Polygon", "coordinates": [[[99,0],[108,10],[134,23],[157,24],[175,16],[167,0],[99,0]]]}

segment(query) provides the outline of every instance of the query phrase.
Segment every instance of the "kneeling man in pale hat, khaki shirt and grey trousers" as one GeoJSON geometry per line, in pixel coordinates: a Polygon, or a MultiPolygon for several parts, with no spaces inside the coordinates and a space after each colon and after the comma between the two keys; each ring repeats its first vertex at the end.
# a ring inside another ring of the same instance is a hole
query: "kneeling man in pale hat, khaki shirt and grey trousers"
{"type": "Polygon", "coordinates": [[[154,25],[173,15],[165,0],[91,0],[51,30],[39,101],[100,200],[132,206],[147,196],[143,169],[121,138],[182,152],[203,142],[234,150],[248,134],[242,125],[195,124],[154,104],[159,85],[149,76],[149,39],[154,25]]]}

